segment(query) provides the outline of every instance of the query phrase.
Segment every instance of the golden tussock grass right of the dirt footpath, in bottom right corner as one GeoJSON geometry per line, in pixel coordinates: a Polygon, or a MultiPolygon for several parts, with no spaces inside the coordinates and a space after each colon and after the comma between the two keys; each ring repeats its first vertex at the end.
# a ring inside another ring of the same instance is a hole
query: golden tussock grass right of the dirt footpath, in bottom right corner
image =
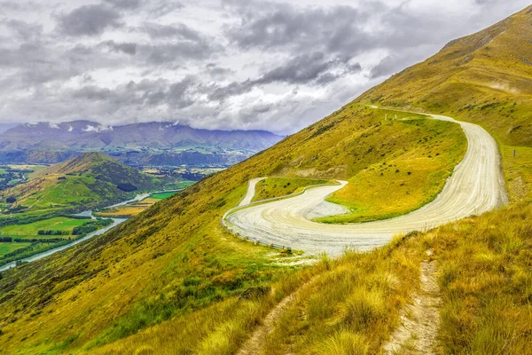
{"type": "Polygon", "coordinates": [[[520,205],[440,228],[431,236],[440,264],[448,353],[532,353],[532,206],[520,205]]]}

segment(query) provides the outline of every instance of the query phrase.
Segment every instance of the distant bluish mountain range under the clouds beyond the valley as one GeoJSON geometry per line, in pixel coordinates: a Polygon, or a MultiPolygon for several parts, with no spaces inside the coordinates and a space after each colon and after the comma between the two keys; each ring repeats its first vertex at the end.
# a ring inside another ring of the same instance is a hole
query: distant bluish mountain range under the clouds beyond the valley
{"type": "Polygon", "coordinates": [[[282,139],[264,130],[198,130],[171,122],[38,122],[0,132],[0,163],[56,163],[98,151],[133,165],[230,165],[282,139]]]}

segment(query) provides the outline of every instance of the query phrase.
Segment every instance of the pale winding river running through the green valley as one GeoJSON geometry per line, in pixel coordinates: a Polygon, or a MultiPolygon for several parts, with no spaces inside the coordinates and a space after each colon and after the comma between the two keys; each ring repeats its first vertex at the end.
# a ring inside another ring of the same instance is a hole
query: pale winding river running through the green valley
{"type": "MultiPolygon", "coordinates": [[[[124,205],[127,205],[128,203],[132,203],[132,202],[137,202],[137,201],[143,201],[145,200],[146,198],[152,196],[153,194],[157,194],[157,193],[177,193],[181,191],[180,190],[167,190],[167,191],[157,191],[155,193],[142,193],[142,194],[137,194],[137,196],[134,198],[134,199],[131,199],[131,200],[128,200],[128,201],[123,201],[123,202],[120,202],[120,203],[116,203],[112,206],[107,206],[106,209],[111,209],[113,207],[120,207],[120,206],[124,206],[124,205]]],[[[86,211],[83,211],[81,213],[77,213],[75,214],[74,216],[78,216],[78,217],[92,217],[92,218],[96,218],[94,217],[94,215],[92,214],[93,210],[92,209],[88,209],[86,211]]],[[[80,238],[76,241],[73,241],[69,244],[66,244],[66,245],[62,245],[58,248],[52,248],[52,249],[49,249],[49,250],[46,250],[46,251],[43,251],[41,253],[38,253],[38,254],[35,254],[34,256],[27,256],[27,257],[24,257],[24,258],[21,258],[19,260],[14,260],[12,261],[11,263],[9,264],[4,264],[2,266],[0,266],[0,272],[4,272],[6,270],[9,270],[9,269],[12,269],[13,267],[15,267],[17,265],[17,263],[19,262],[27,262],[27,263],[31,263],[32,261],[35,261],[35,260],[40,260],[42,259],[43,257],[46,257],[46,256],[51,256],[52,254],[55,254],[61,250],[65,250],[66,248],[71,248],[71,247],[74,247],[74,245],[76,244],[79,244],[81,243],[82,241],[88,241],[90,240],[91,238],[94,238],[96,237],[97,235],[102,235],[110,230],[112,230],[115,226],[117,225],[121,225],[122,223],[124,223],[125,221],[128,220],[128,218],[108,218],[108,219],[113,219],[113,225],[108,225],[106,226],[105,228],[102,228],[102,229],[98,229],[98,231],[95,231],[95,232],[92,232],[92,233],[89,233],[87,235],[85,235],[83,238],[80,238]]]]}

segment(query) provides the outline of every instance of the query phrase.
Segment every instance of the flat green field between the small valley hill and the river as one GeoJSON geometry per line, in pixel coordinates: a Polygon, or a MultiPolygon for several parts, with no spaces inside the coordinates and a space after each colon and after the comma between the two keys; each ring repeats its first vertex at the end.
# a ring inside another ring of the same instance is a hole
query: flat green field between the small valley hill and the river
{"type": "MultiPolygon", "coordinates": [[[[56,217],[30,223],[29,225],[8,225],[0,228],[0,236],[13,236],[17,238],[51,238],[50,235],[37,235],[39,230],[53,230],[61,232],[70,232],[74,227],[84,225],[87,219],[74,219],[67,217],[56,217]]],[[[68,237],[68,236],[53,236],[54,238],[68,237]]]]}

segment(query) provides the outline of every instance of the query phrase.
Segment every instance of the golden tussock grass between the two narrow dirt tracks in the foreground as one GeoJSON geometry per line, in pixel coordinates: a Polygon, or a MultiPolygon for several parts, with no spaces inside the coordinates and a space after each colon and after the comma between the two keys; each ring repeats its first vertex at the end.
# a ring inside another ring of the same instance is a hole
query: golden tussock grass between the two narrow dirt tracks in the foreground
{"type": "Polygon", "coordinates": [[[411,237],[369,253],[323,256],[317,272],[268,335],[269,354],[371,354],[399,323],[401,307],[419,288],[424,246],[411,237]]]}

